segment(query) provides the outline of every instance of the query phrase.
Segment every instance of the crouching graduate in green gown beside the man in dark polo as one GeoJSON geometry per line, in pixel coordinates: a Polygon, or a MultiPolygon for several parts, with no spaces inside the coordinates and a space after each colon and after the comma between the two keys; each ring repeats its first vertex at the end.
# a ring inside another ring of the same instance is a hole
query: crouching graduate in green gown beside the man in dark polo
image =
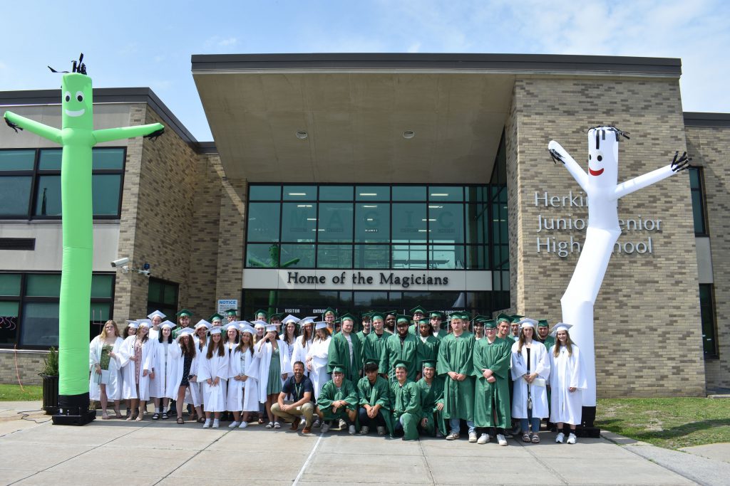
{"type": "Polygon", "coordinates": [[[350,434],[355,434],[357,420],[358,392],[353,382],[345,378],[345,367],[335,364],[332,367],[332,379],[322,386],[317,399],[317,415],[326,422],[322,431],[331,427],[328,420],[343,420],[350,434]]]}

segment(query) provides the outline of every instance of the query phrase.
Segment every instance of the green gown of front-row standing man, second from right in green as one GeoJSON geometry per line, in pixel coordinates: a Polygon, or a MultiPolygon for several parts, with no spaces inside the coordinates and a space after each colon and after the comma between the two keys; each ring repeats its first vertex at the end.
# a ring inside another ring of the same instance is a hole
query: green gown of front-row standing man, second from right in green
{"type": "Polygon", "coordinates": [[[448,334],[439,345],[436,372],[444,380],[444,417],[474,420],[474,376],[472,352],[474,334],[463,332],[455,337],[448,334]],[[466,375],[463,381],[453,380],[448,372],[466,375]]]}

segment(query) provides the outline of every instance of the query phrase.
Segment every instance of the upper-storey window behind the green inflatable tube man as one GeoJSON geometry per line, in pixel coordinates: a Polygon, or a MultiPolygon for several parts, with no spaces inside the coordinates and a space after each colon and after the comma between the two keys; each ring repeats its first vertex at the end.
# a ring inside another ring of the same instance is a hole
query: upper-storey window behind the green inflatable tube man
{"type": "MultiPolygon", "coordinates": [[[[61,218],[62,149],[0,150],[0,219],[61,218]]],[[[95,219],[118,219],[126,149],[92,149],[95,219]]]]}

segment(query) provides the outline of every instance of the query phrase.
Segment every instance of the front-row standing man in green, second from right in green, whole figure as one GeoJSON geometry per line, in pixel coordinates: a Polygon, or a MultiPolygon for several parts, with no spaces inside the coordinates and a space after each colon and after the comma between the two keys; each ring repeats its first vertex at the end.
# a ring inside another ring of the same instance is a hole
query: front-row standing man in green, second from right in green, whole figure
{"type": "Polygon", "coordinates": [[[447,440],[459,438],[459,420],[466,420],[469,427],[469,442],[477,442],[474,428],[474,376],[472,375],[472,353],[474,335],[464,331],[466,313],[451,315],[453,332],[441,340],[436,372],[444,382],[444,418],[449,419],[447,440]],[[472,440],[473,439],[473,440],[472,440]]]}

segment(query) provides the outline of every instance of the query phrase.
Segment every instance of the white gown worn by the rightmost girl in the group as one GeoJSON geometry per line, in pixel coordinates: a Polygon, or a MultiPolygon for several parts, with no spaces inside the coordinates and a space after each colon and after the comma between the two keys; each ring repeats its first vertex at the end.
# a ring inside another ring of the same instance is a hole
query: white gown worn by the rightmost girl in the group
{"type": "Polygon", "coordinates": [[[580,424],[583,411],[583,392],[588,387],[585,368],[580,358],[580,350],[572,345],[572,355],[561,346],[558,357],[553,355],[555,346],[550,348],[550,422],[580,424]],[[577,388],[569,391],[569,387],[577,388]]]}

